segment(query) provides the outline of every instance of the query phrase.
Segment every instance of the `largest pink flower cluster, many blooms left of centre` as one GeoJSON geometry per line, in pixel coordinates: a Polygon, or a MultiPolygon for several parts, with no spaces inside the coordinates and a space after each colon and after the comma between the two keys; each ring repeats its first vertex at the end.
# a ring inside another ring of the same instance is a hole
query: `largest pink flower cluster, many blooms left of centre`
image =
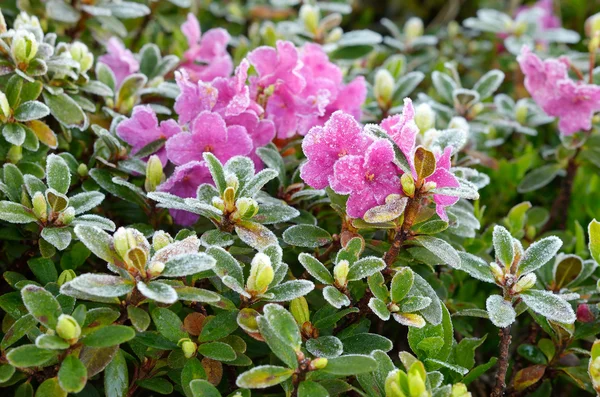
{"type": "MultiPolygon", "coordinates": [[[[132,154],[158,139],[166,140],[157,155],[163,164],[168,160],[176,168],[159,190],[195,197],[200,184],[212,183],[202,161],[204,152],[212,152],[223,163],[234,156],[248,156],[260,169],[263,165],[256,149],[276,135],[304,135],[335,111],[344,111],[345,117],[357,125],[366,98],[364,78],[345,85],[342,71],[320,46],[306,44],[297,49],[291,42],[279,41],[277,48],[259,47],[230,76],[232,61],[226,50],[226,31],[211,29],[201,35],[192,14],[182,31],[189,49],[181,69],[175,72],[180,89],[174,106],[178,121],[159,123],[151,107],[137,106],[131,118],[117,127],[117,134],[132,146],[132,154]],[[256,75],[248,77],[251,65],[256,75]]],[[[103,57],[115,74],[119,71],[120,76],[126,76],[134,71],[126,65],[135,58],[120,42],[116,43],[103,57]]],[[[197,219],[181,211],[172,214],[183,225],[197,219]]]]}

